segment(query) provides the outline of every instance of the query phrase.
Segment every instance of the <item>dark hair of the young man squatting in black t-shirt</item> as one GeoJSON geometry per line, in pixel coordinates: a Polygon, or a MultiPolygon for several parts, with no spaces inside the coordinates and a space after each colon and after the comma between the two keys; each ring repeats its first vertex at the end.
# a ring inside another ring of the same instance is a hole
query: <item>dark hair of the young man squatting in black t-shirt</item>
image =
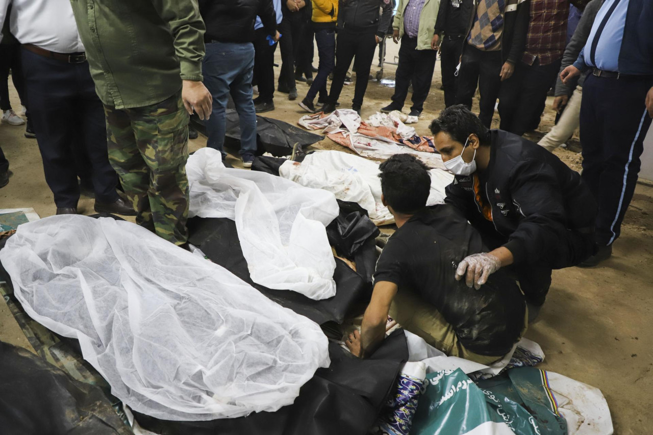
{"type": "Polygon", "coordinates": [[[392,210],[412,214],[426,206],[431,176],[424,163],[410,154],[395,154],[379,166],[381,191],[392,210]]]}

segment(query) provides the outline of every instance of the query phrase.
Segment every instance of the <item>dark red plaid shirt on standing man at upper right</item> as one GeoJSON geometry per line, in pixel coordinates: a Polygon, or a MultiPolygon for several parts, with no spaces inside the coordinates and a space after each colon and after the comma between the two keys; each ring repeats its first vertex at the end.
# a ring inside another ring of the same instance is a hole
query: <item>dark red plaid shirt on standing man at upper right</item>
{"type": "Polygon", "coordinates": [[[588,0],[531,0],[530,24],[526,34],[526,50],[522,62],[549,65],[562,58],[567,44],[569,3],[584,8],[588,0]]]}

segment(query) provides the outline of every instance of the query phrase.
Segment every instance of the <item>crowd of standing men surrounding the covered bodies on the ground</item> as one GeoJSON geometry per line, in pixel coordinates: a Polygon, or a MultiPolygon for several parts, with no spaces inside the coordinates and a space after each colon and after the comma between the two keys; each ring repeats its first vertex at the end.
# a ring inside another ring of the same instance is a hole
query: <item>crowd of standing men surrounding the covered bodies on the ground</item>
{"type": "MultiPolygon", "coordinates": [[[[98,212],[135,214],[184,245],[189,114],[223,152],[231,96],[249,167],[256,113],[274,110],[277,46],[276,89],[294,100],[296,81],[310,82],[299,103],[309,112],[336,110],[353,61],[351,108],[360,113],[374,51],[392,35],[401,46],[383,112],[401,110],[412,84],[410,114],[421,114],[438,52],[445,106],[471,108],[478,89],[485,127],[498,101],[500,129],[535,129],[555,88],[560,125],[542,145],[552,150],[580,125],[582,178],[599,203],[592,261],[609,257],[653,116],[650,1],[399,0],[394,19],[393,9],[390,0],[0,0],[10,47],[1,46],[0,80],[6,86],[8,69],[18,80],[25,134],[37,138],[57,214],[77,212],[79,177],[98,212]]],[[[22,123],[6,93],[0,105],[3,122],[22,123]]],[[[0,152],[0,185],[7,182],[0,152]]]]}

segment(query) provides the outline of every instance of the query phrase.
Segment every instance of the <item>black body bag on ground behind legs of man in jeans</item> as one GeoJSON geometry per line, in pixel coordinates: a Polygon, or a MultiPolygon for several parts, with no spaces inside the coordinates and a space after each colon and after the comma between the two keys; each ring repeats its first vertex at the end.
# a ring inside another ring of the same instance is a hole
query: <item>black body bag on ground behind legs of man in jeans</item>
{"type": "MultiPolygon", "coordinates": [[[[193,119],[195,128],[206,135],[204,121],[193,119]]],[[[259,152],[268,152],[277,157],[291,155],[293,146],[299,144],[297,149],[301,150],[306,146],[319,142],[324,137],[304,131],[295,125],[287,122],[256,117],[257,146],[259,152]]],[[[227,109],[227,130],[225,131],[225,146],[240,148],[240,120],[235,109],[227,109]]]]}

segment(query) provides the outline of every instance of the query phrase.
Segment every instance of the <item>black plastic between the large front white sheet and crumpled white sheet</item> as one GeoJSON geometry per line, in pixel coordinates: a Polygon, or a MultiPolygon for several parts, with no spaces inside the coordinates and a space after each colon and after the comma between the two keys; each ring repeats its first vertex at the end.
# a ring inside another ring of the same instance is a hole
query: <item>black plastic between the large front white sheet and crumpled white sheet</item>
{"type": "Polygon", "coordinates": [[[279,305],[290,308],[319,325],[327,321],[342,323],[345,314],[356,302],[369,298],[368,286],[363,278],[340,259],[336,259],[333,276],[336,282],[334,297],[313,300],[295,291],[268,289],[254,283],[249,277],[234,221],[225,217],[193,217],[188,220],[188,230],[188,241],[200,248],[211,261],[223,266],[279,305]]]}

